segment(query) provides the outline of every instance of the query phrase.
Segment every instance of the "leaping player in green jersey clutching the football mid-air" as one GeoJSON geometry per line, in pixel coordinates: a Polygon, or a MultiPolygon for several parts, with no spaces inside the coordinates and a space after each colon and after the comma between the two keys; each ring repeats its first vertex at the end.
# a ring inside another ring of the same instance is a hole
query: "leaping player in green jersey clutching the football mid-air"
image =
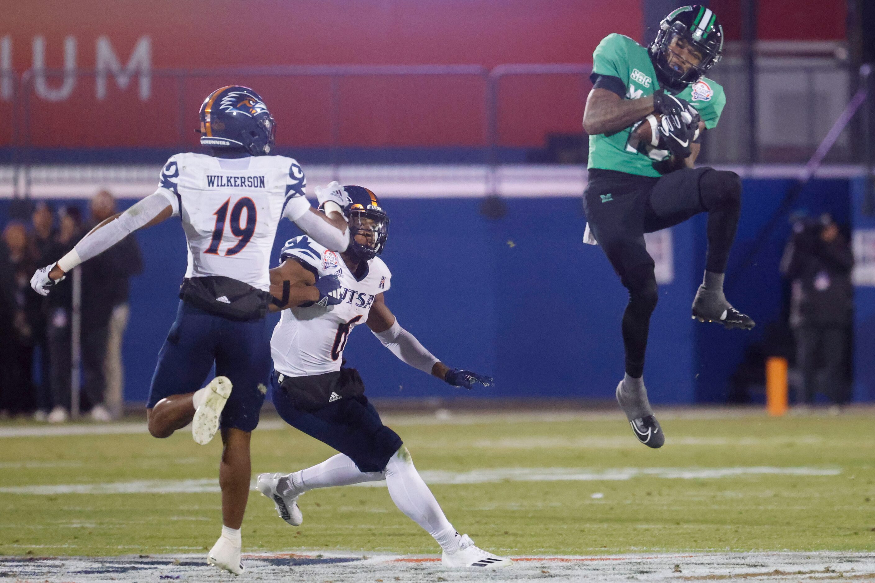
{"type": "Polygon", "coordinates": [[[717,125],[726,102],[723,87],[704,76],[722,51],[717,16],[693,5],[663,18],[649,48],[611,34],[592,54],[593,88],[584,110],[590,135],[587,237],[602,247],[629,290],[622,322],[626,376],[617,386],[617,400],[635,436],[650,448],[662,447],[665,436],[642,379],[657,300],[644,233],[707,212],[708,252],[693,317],[753,328],[753,320],[732,308],[723,293],[741,180],[734,172],[694,167],[701,132],[717,125]],[[649,125],[649,140],[641,139],[646,131],[637,131],[642,123],[649,125]]]}

